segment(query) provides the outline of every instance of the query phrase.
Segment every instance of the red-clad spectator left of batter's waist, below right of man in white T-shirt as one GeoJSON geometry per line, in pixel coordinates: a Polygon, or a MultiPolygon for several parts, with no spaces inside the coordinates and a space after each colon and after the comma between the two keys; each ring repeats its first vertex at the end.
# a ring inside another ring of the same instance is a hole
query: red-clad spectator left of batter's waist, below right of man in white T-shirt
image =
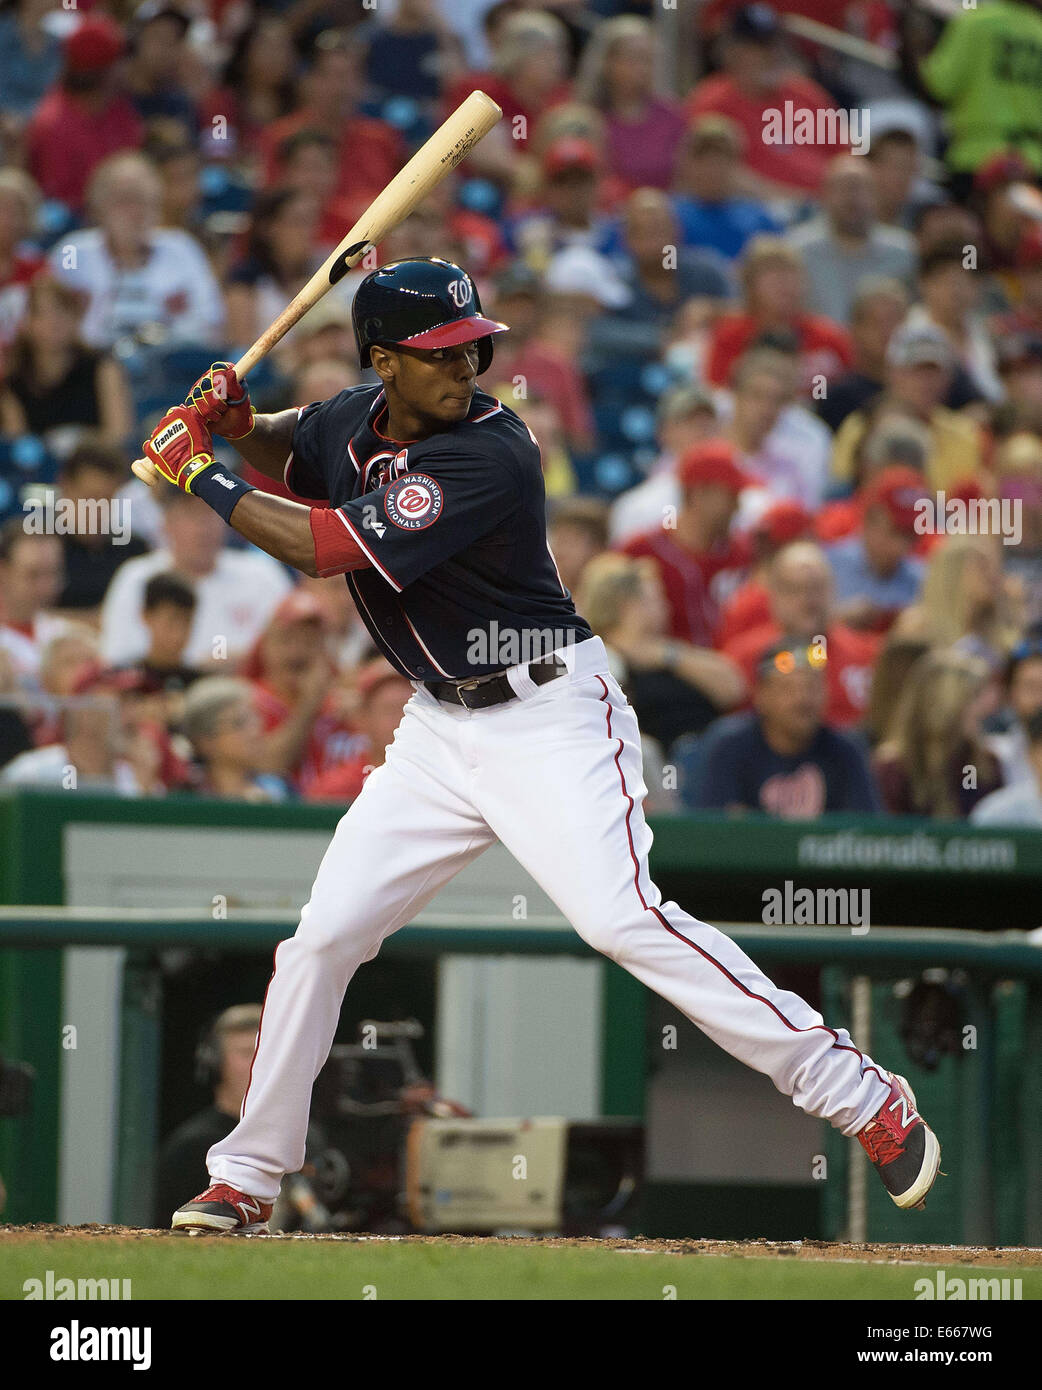
{"type": "Polygon", "coordinates": [[[264,726],[263,767],[301,794],[357,745],[332,695],[325,623],[318,599],[295,589],[275,609],[242,671],[253,682],[264,726]]]}

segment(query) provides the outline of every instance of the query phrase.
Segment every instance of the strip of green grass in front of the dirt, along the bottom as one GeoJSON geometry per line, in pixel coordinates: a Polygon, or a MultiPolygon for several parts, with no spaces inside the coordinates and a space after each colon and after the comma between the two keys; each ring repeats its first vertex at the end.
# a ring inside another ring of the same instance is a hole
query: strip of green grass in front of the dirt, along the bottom
{"type": "Polygon", "coordinates": [[[29,1279],[129,1279],[143,1298],[656,1300],[917,1297],[916,1280],[1020,1279],[1042,1297],[1042,1251],[464,1237],[186,1237],[0,1227],[0,1300],[29,1279]]]}

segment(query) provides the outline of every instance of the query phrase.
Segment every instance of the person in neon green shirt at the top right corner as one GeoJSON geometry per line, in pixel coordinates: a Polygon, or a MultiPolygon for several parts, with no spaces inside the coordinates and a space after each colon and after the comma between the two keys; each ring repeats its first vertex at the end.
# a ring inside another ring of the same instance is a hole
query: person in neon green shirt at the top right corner
{"type": "Polygon", "coordinates": [[[1042,0],[992,0],[946,24],[924,60],[925,89],[946,110],[948,164],[974,174],[1016,149],[1042,172],[1042,0]]]}

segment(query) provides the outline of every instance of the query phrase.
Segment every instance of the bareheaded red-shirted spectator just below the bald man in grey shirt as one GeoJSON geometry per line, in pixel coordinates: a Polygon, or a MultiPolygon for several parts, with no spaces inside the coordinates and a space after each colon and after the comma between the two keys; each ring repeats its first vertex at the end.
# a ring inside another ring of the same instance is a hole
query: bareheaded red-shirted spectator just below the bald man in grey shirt
{"type": "Polygon", "coordinates": [[[804,309],[806,277],[799,252],[777,236],[754,236],[742,257],[745,307],[722,314],[710,336],[706,377],[727,386],[742,353],[768,345],[799,356],[800,384],[810,392],[814,379],[835,379],[854,361],[846,328],[809,314],[804,309]]]}

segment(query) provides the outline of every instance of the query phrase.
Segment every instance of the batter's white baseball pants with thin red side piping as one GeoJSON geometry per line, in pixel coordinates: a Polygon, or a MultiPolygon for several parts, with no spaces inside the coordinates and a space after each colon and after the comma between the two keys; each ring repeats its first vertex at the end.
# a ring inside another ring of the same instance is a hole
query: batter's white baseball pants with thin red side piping
{"type": "Polygon", "coordinates": [[[304,1162],[311,1087],[347,984],[392,931],[502,840],[597,951],[656,990],[809,1115],[854,1134],[889,1076],[842,1029],[778,990],[729,937],[663,902],[647,872],[640,734],[599,638],[568,674],[486,710],[418,687],[386,762],[336,827],[293,937],[275,951],[250,1084],[211,1177],[274,1201],[304,1162]]]}

